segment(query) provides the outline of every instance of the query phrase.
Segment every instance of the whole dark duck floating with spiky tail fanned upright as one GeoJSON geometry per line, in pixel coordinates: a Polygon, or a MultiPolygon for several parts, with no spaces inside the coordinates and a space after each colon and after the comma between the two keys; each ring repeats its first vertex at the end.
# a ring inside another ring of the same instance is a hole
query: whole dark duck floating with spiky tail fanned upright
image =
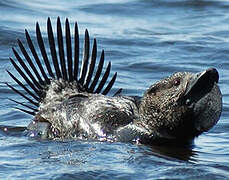
{"type": "Polygon", "coordinates": [[[57,42],[50,19],[47,27],[52,63],[38,23],[36,35],[41,57],[25,31],[31,53],[24,48],[20,40],[18,44],[27,62],[24,62],[23,57],[14,49],[20,66],[10,58],[30,88],[7,71],[27,94],[7,85],[33,105],[32,107],[12,100],[29,110],[18,109],[34,116],[27,128],[30,135],[39,135],[42,138],[128,142],[135,140],[142,143],[187,142],[217,123],[222,110],[222,96],[217,85],[219,75],[216,69],[207,69],[197,74],[175,73],[153,84],[143,97],[122,96],[121,89],[114,96],[106,96],[115,82],[117,73],[109,78],[109,62],[102,76],[104,51],[101,53],[98,67],[95,67],[96,40],[94,39],[90,56],[89,34],[85,31],[83,59],[78,72],[80,53],[77,24],[74,47],[68,19],[65,22],[65,40],[59,18],[57,42]]]}

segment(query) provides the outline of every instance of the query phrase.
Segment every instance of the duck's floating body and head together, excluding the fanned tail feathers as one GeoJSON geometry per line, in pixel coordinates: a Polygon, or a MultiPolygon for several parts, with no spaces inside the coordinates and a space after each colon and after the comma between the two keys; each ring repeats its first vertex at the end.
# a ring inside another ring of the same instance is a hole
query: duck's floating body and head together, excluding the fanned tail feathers
{"type": "Polygon", "coordinates": [[[42,138],[190,143],[220,117],[217,76],[215,69],[175,73],[152,85],[143,97],[79,92],[77,86],[55,80],[28,129],[42,138]],[[200,81],[206,81],[200,84],[203,92],[195,89],[200,81]]]}

